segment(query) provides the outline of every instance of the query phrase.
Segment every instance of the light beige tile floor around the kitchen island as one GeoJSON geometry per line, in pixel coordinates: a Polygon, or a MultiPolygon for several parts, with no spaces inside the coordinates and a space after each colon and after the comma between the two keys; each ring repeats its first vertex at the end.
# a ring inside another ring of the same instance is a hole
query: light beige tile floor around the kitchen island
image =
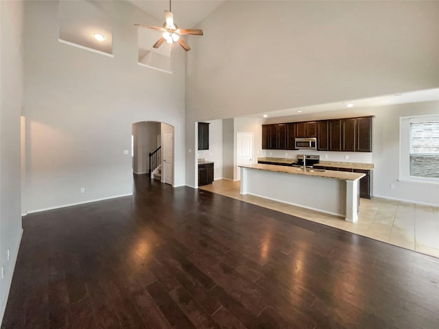
{"type": "Polygon", "coordinates": [[[291,206],[253,195],[239,194],[240,182],[215,180],[200,189],[233,197],[371,239],[412,249],[439,258],[439,207],[374,197],[360,199],[358,221],[291,206]]]}

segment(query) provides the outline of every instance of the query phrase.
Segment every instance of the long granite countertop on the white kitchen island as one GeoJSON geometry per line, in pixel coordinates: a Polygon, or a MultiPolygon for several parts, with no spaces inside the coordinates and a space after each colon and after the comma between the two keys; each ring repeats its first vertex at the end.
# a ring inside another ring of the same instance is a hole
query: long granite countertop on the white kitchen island
{"type": "Polygon", "coordinates": [[[300,167],[285,167],[285,166],[277,166],[276,164],[262,164],[262,163],[241,165],[239,167],[260,169],[266,171],[276,171],[278,173],[293,173],[298,175],[335,178],[337,180],[359,180],[365,175],[364,173],[350,173],[348,171],[333,171],[333,170],[312,171],[313,169],[307,169],[307,171],[303,171],[301,170],[300,167]]]}

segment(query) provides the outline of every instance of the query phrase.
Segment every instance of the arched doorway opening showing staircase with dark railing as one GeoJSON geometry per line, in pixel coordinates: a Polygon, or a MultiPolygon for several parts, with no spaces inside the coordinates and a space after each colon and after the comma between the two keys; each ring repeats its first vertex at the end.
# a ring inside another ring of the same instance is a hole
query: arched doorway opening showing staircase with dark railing
{"type": "Polygon", "coordinates": [[[132,124],[132,171],[174,186],[174,127],[157,121],[132,124]]]}

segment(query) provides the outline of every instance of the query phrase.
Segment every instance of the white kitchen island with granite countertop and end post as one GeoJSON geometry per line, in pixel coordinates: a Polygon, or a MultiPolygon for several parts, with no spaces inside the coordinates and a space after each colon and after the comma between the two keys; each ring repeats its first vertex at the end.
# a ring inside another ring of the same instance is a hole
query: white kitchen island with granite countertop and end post
{"type": "Polygon", "coordinates": [[[364,173],[303,170],[274,164],[241,165],[241,194],[358,219],[358,182],[364,173]]]}

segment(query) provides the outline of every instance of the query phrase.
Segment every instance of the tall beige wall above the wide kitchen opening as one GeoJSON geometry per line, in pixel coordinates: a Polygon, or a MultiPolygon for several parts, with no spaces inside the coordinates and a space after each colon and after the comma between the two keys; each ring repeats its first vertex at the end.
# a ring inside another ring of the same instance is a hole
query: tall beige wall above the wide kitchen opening
{"type": "Polygon", "coordinates": [[[438,1],[224,2],[191,39],[187,152],[195,121],[436,88],[438,16],[438,1]]]}

